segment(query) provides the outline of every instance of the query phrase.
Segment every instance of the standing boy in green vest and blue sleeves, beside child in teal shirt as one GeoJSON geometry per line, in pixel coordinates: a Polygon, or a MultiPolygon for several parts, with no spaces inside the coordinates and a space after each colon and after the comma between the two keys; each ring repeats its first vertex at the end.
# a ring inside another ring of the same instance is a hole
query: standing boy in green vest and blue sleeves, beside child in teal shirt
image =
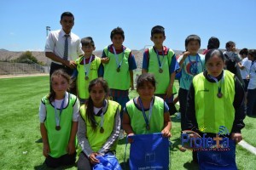
{"type": "Polygon", "coordinates": [[[154,26],[150,39],[154,42],[154,46],[144,51],[142,73],[154,74],[157,82],[154,95],[166,101],[169,113],[172,115],[177,112],[173,104],[173,94],[176,93],[173,82],[179,65],[172,49],[163,45],[166,40],[163,26],[154,26]]]}

